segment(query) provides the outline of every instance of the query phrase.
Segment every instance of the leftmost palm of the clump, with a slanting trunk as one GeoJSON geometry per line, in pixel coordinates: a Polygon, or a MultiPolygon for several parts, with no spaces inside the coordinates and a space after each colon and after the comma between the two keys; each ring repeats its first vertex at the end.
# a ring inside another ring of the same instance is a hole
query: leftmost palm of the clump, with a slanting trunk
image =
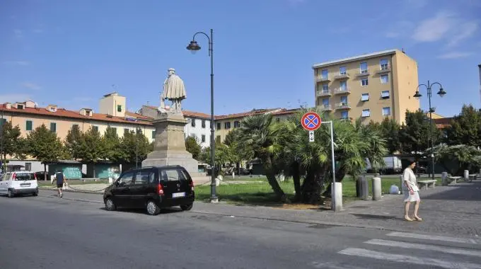
{"type": "Polygon", "coordinates": [[[285,201],[286,195],[276,180],[274,160],[274,141],[277,133],[272,128],[272,115],[252,115],[243,119],[238,139],[245,149],[253,152],[253,158],[260,159],[267,181],[279,200],[285,201]]]}

